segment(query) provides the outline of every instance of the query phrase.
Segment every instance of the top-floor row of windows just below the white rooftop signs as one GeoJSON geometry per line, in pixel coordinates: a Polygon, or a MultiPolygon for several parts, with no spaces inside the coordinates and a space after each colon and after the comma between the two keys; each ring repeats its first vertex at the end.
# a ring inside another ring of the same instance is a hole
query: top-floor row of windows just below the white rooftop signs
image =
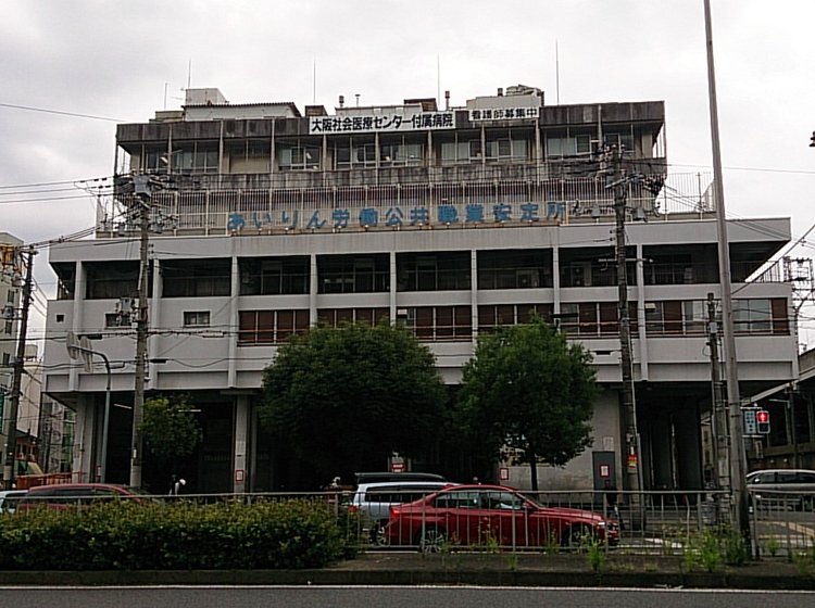
{"type": "MultiPolygon", "coordinates": [[[[634,154],[635,137],[631,132],[605,134],[603,140],[605,144],[620,145],[628,156],[634,154]]],[[[550,160],[590,155],[601,148],[597,134],[549,136],[543,144],[544,156],[550,160]]],[[[170,153],[166,148],[148,150],[141,168],[151,173],[218,172],[220,152],[216,142],[174,142],[174,145],[176,149],[170,153]]],[[[456,134],[453,141],[441,141],[439,161],[442,165],[527,162],[532,160],[534,148],[535,139],[528,130],[509,131],[505,137],[490,137],[485,141],[478,134],[463,137],[456,134]]],[[[329,142],[327,156],[331,169],[422,166],[427,157],[426,149],[426,138],[417,135],[380,142],[378,147],[372,138],[356,137],[329,142]]],[[[268,163],[273,148],[267,140],[247,140],[228,144],[224,153],[226,163],[254,160],[268,163]]],[[[304,140],[284,138],[275,142],[274,153],[280,170],[319,169],[323,165],[322,147],[304,140]]]]}

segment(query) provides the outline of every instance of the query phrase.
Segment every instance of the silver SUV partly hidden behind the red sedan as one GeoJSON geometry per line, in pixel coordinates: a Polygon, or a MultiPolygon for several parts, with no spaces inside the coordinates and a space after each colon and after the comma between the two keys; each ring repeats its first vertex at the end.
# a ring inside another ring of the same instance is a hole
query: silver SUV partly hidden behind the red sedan
{"type": "Polygon", "coordinates": [[[359,473],[358,479],[350,509],[360,514],[363,530],[367,530],[371,542],[377,545],[386,544],[383,530],[390,519],[390,507],[454,485],[432,473],[359,473]]]}

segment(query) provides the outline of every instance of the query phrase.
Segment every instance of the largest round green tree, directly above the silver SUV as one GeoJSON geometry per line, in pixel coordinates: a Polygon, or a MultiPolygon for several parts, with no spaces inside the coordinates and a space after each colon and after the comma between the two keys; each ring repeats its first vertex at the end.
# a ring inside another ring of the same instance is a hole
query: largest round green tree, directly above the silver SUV
{"type": "Polygon", "coordinates": [[[432,354],[404,328],[315,327],[263,370],[262,422],[330,479],[416,457],[443,426],[444,387],[432,354]]]}

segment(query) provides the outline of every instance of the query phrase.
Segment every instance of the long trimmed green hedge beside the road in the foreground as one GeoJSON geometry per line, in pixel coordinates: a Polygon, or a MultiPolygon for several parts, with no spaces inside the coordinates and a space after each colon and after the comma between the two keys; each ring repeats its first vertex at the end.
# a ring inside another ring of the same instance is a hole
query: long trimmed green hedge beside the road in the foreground
{"type": "Polygon", "coordinates": [[[326,504],[100,503],[0,517],[2,570],[321,568],[347,555],[326,504]]]}

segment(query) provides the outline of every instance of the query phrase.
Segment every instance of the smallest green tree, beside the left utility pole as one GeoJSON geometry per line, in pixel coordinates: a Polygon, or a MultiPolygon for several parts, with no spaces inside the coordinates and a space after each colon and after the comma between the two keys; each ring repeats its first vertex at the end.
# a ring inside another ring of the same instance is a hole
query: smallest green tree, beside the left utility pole
{"type": "Polygon", "coordinates": [[[178,472],[178,461],[192,454],[202,439],[188,395],[146,400],[139,429],[155,464],[171,474],[178,472]]]}

